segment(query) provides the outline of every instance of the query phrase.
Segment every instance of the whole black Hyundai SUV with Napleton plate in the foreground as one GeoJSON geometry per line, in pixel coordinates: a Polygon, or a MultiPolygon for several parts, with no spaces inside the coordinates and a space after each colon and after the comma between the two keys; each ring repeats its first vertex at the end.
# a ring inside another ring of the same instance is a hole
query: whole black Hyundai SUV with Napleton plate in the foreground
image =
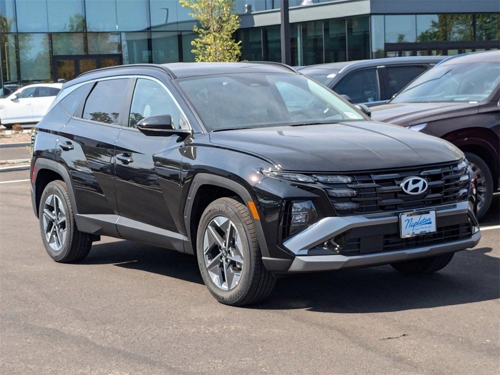
{"type": "Polygon", "coordinates": [[[276,63],[125,65],[64,84],[37,124],[31,198],[48,254],[108,235],[196,254],[220,302],[276,274],[433,272],[480,232],[463,153],[369,121],[276,63]]]}

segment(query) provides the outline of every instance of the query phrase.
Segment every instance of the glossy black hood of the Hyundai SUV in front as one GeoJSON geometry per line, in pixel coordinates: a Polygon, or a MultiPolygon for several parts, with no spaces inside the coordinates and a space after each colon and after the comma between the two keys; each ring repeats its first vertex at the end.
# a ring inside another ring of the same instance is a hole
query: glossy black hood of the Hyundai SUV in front
{"type": "Polygon", "coordinates": [[[445,140],[375,121],[224,130],[211,132],[210,142],[294,171],[386,169],[462,156],[445,140]]]}

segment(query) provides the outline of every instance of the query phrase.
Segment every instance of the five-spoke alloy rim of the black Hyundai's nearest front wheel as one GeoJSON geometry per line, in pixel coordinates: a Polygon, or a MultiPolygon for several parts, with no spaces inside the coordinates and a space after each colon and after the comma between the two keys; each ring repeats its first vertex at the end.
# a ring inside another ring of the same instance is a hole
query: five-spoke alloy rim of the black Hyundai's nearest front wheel
{"type": "Polygon", "coordinates": [[[216,216],[203,234],[203,258],[208,275],[222,290],[238,284],[243,268],[241,237],[231,220],[216,216]]]}

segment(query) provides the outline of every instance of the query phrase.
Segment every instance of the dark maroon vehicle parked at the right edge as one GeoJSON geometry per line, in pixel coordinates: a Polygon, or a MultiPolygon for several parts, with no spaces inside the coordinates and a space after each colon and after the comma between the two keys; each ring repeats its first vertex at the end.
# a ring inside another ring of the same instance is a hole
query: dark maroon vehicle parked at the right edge
{"type": "Polygon", "coordinates": [[[427,70],[371,118],[435,135],[463,152],[477,177],[477,217],[498,188],[500,51],[450,57],[427,70]]]}

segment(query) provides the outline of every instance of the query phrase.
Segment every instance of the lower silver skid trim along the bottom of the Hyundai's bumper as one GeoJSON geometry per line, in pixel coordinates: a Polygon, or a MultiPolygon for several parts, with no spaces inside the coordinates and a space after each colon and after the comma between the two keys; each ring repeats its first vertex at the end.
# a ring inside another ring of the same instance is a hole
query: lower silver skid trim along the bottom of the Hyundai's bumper
{"type": "Polygon", "coordinates": [[[433,246],[411,248],[407,250],[379,252],[366,255],[309,255],[295,256],[293,262],[288,268],[288,272],[309,272],[325,271],[330,269],[360,267],[367,265],[377,265],[392,263],[401,260],[410,260],[425,256],[437,255],[445,252],[463,250],[474,247],[481,238],[481,232],[478,231],[470,238],[460,241],[436,244],[433,246]]]}

